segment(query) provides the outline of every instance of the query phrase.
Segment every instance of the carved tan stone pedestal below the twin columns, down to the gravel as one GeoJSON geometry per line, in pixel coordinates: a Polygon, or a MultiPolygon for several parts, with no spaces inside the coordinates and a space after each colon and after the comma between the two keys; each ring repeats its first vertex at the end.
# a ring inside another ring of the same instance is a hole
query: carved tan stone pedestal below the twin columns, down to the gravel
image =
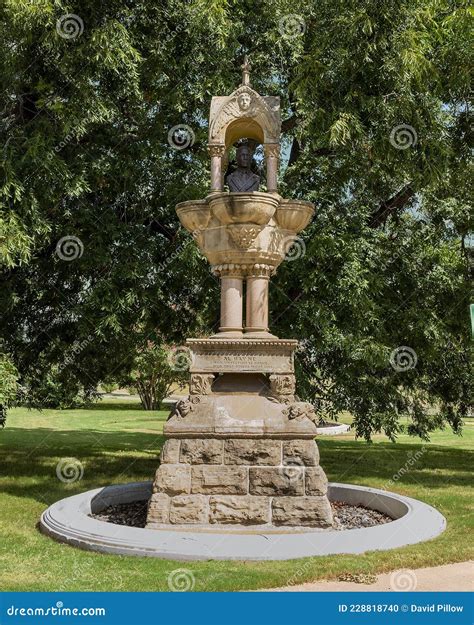
{"type": "Polygon", "coordinates": [[[147,528],[331,526],[314,410],[294,395],[296,341],[188,345],[190,395],[165,425],[147,528]]]}

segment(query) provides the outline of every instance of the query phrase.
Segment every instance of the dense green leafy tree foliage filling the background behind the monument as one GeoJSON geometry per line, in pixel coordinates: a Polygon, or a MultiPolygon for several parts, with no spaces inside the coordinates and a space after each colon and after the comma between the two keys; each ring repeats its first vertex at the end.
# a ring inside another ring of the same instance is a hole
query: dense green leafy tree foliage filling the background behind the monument
{"type": "Polygon", "coordinates": [[[132,371],[143,332],[179,344],[217,326],[218,285],[174,206],[208,191],[210,98],[248,53],[252,85],[282,96],[281,192],[317,206],[304,260],[271,287],[273,331],[301,341],[300,395],[350,410],[366,438],[395,437],[400,414],[424,437],[459,430],[464,2],[45,0],[6,2],[0,22],[0,332],[33,404],[51,376],[67,402],[132,371]]]}

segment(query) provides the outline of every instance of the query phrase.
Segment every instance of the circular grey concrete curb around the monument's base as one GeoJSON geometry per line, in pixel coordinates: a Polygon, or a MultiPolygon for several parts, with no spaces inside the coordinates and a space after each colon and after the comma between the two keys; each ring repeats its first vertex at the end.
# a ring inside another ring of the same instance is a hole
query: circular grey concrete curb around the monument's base
{"type": "Polygon", "coordinates": [[[105,507],[147,499],[151,482],[97,488],[57,501],[41,515],[40,529],[81,549],[172,560],[291,560],[308,556],[381,551],[435,538],[446,519],[427,504],[396,493],[351,484],[330,484],[329,499],[364,505],[395,520],[375,527],[322,531],[272,528],[244,533],[235,528],[147,530],[97,521],[105,507]]]}

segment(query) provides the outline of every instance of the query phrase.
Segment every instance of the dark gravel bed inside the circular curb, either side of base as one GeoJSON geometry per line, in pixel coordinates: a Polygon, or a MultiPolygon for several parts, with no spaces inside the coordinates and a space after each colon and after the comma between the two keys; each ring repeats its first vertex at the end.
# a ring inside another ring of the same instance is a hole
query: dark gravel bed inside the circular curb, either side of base
{"type": "MultiPolygon", "coordinates": [[[[147,501],[135,501],[134,503],[109,506],[100,514],[91,514],[93,519],[115,523],[116,525],[128,525],[130,527],[145,527],[147,501]]],[[[363,506],[350,506],[341,501],[332,501],[331,507],[334,515],[334,527],[336,530],[351,530],[359,527],[372,527],[390,523],[392,518],[376,510],[370,510],[363,506]]]]}

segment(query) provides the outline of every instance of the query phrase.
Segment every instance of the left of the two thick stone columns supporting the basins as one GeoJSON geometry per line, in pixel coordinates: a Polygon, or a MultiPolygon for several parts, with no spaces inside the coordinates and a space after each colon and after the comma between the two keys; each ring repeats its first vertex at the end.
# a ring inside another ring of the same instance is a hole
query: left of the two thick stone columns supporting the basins
{"type": "Polygon", "coordinates": [[[242,334],[243,273],[239,265],[219,265],[214,273],[221,279],[221,325],[219,332],[242,334]]]}

